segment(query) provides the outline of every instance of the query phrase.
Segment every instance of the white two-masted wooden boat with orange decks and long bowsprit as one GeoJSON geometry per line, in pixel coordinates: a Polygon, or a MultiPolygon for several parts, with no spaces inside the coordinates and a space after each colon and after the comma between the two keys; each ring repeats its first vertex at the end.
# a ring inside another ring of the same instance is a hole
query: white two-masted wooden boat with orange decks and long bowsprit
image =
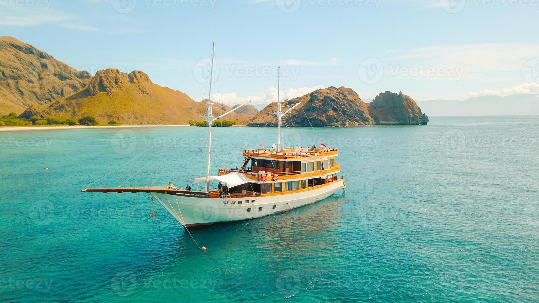
{"type": "MultiPolygon", "coordinates": [[[[210,93],[213,73],[210,70],[210,93]]],[[[298,107],[293,104],[281,111],[280,67],[278,68],[277,112],[278,141],[271,149],[243,150],[243,165],[236,168],[219,168],[217,175],[210,175],[212,123],[220,116],[212,115],[211,98],[208,111],[203,118],[208,123],[208,150],[206,174],[196,178],[195,183],[204,182],[203,191],[190,191],[168,186],[85,188],[86,193],[149,193],[155,200],[182,224],[185,229],[208,226],[219,222],[254,219],[286,212],[294,208],[320,201],[339,189],[344,189],[344,177],[337,178],[340,165],[335,163],[337,149],[312,147],[281,147],[281,118],[298,107]],[[248,165],[250,167],[247,167],[248,165]],[[219,188],[210,188],[210,181],[219,181],[219,188]]],[[[241,104],[245,105],[249,101],[241,104]]]]}

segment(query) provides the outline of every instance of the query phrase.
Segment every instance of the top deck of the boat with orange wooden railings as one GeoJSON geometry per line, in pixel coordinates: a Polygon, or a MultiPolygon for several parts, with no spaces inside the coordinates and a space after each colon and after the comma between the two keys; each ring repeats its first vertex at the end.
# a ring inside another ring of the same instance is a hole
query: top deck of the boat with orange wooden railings
{"type": "Polygon", "coordinates": [[[338,154],[337,149],[309,149],[306,147],[286,147],[280,152],[273,149],[254,149],[243,150],[244,157],[251,158],[269,158],[279,160],[305,159],[324,156],[335,156],[338,154]]]}

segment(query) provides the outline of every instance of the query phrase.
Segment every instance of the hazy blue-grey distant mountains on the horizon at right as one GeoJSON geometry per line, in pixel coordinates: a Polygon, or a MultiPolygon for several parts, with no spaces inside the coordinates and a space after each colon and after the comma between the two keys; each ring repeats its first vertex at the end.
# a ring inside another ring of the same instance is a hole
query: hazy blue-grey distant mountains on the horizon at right
{"type": "Polygon", "coordinates": [[[430,116],[539,115],[537,95],[480,96],[457,100],[427,100],[418,105],[430,116]]]}

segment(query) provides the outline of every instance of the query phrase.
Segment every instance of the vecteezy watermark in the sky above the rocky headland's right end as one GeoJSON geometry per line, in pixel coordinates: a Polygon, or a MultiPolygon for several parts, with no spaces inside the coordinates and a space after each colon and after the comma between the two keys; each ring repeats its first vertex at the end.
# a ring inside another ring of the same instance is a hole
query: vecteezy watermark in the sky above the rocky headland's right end
{"type": "Polygon", "coordinates": [[[464,75],[464,67],[455,66],[402,66],[390,64],[387,68],[382,60],[369,58],[363,60],[357,67],[357,75],[365,84],[375,84],[382,80],[385,71],[392,77],[429,77],[460,80],[464,75]]]}

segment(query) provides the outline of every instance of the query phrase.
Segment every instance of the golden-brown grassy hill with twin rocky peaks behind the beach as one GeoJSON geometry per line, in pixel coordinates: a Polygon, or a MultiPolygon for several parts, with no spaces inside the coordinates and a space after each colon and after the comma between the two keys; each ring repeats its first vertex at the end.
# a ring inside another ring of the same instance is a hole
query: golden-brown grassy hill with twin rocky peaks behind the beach
{"type": "MultiPolygon", "coordinates": [[[[42,107],[29,107],[20,117],[79,119],[91,115],[101,124],[112,119],[122,124],[187,124],[205,111],[206,104],[181,91],[158,86],[141,71],[126,74],[118,69],[103,69],[86,88],[42,107]]],[[[214,115],[224,112],[216,108],[214,115]]],[[[238,119],[241,123],[245,118],[232,113],[226,119],[238,119]]]]}

